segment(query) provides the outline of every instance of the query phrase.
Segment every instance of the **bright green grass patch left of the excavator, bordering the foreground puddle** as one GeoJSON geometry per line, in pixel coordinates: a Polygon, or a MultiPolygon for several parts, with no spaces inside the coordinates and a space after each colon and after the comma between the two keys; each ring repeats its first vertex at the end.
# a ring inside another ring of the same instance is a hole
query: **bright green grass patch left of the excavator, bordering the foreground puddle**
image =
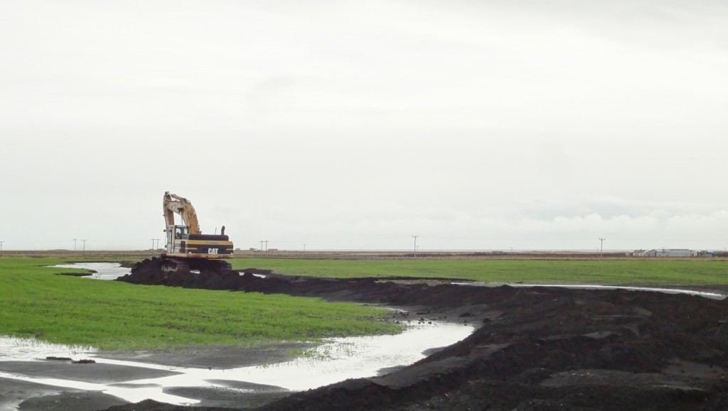
{"type": "Polygon", "coordinates": [[[397,332],[379,308],[285,295],[146,287],[0,258],[0,335],[101,349],[245,346],[397,332]]]}

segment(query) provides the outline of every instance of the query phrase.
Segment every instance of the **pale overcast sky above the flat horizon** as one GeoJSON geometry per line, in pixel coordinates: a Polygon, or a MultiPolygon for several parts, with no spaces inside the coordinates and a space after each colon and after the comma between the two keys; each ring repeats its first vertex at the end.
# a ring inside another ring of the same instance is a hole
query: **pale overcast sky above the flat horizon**
{"type": "Polygon", "coordinates": [[[725,1],[4,1],[0,241],[723,250],[727,112],[725,1]]]}

